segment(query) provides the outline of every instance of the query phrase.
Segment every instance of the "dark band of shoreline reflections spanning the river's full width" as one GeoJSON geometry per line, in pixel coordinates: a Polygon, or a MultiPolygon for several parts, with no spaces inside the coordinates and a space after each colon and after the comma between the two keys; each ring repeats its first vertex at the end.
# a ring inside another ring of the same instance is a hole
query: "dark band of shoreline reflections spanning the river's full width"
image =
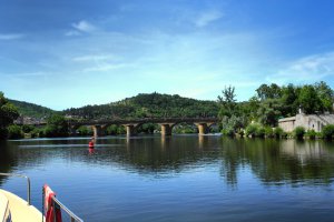
{"type": "MultiPolygon", "coordinates": [[[[0,171],[43,165],[55,159],[95,167],[116,163],[139,174],[179,173],[219,162],[220,176],[237,186],[245,170],[265,185],[328,185],[334,178],[333,143],[325,141],[252,140],[219,137],[90,138],[0,143],[0,171]]],[[[0,178],[1,183],[1,178],[0,178]]]]}

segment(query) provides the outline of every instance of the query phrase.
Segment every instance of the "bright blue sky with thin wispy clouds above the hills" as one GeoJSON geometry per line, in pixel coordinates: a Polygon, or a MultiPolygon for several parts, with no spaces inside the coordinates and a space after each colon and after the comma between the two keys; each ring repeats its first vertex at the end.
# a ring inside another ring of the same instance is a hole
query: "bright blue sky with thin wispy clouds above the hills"
{"type": "Polygon", "coordinates": [[[332,0],[0,0],[0,91],[55,110],[138,93],[334,89],[332,0]]]}

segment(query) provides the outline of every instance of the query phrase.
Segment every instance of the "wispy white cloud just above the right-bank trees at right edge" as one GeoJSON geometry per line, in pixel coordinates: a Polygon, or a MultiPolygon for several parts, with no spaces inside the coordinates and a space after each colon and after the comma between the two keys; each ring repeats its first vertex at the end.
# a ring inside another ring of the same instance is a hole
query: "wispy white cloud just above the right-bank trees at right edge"
{"type": "Polygon", "coordinates": [[[334,52],[313,54],[289,62],[277,73],[268,75],[271,82],[314,82],[334,75],[334,52]]]}

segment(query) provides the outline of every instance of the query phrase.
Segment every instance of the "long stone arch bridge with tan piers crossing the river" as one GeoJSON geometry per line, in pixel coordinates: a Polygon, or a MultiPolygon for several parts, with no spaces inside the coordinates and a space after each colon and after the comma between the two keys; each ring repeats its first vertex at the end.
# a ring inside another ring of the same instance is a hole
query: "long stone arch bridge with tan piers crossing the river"
{"type": "Polygon", "coordinates": [[[94,131],[94,137],[104,134],[105,129],[108,125],[117,124],[124,125],[127,130],[127,137],[136,134],[137,129],[145,123],[157,123],[161,127],[161,135],[171,135],[173,128],[179,123],[195,124],[198,128],[198,134],[206,134],[208,129],[218,123],[218,118],[145,118],[134,120],[92,120],[80,121],[78,123],[69,122],[72,131],[80,125],[90,125],[94,131]]]}

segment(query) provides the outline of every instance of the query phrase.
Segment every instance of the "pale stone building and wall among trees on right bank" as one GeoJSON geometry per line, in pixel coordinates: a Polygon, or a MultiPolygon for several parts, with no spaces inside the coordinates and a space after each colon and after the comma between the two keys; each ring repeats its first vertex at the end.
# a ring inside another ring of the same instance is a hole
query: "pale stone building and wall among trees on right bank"
{"type": "Polygon", "coordinates": [[[326,124],[334,124],[334,114],[304,114],[299,112],[296,117],[278,120],[278,127],[285,132],[292,132],[296,127],[321,132],[326,124]]]}

